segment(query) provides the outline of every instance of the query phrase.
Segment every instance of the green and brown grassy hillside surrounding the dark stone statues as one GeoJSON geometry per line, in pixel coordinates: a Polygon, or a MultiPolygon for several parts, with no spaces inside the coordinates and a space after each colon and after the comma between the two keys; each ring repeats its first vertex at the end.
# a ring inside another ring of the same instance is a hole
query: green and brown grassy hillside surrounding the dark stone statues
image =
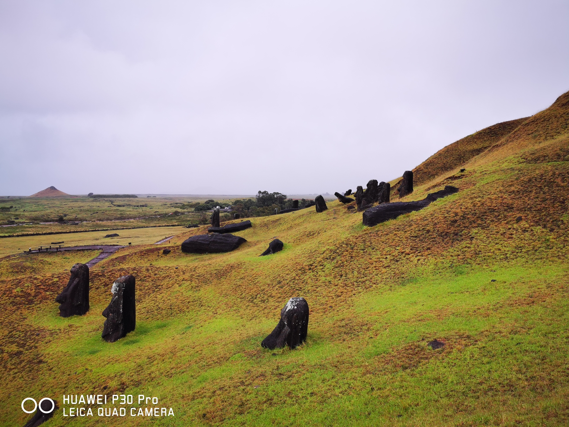
{"type": "MultiPolygon", "coordinates": [[[[36,280],[20,291],[0,263],[0,321],[18,325],[2,337],[1,419],[23,424],[24,395],[125,392],[174,408],[156,425],[566,425],[567,100],[488,141],[454,166],[463,174],[436,174],[435,162],[406,200],[451,182],[460,192],[397,220],[363,227],[333,202],[252,219],[232,253],[181,253],[199,229],[121,250],[92,269],[83,317],[61,319],[52,302],[71,260],[18,273],[36,280]],[[273,237],[284,251],[259,258],[273,237]],[[100,313],[126,273],[137,329],[108,344],[100,313]],[[308,342],[263,350],[296,295],[310,305],[308,342]],[[430,350],[434,338],[446,346],[430,350]]],[[[45,425],[97,422],[59,413],[45,425]]]]}

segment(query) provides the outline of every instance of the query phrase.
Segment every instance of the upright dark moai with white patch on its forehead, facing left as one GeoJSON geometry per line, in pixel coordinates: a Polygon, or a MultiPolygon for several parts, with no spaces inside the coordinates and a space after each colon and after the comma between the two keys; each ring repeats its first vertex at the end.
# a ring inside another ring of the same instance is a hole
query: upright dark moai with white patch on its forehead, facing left
{"type": "Polygon", "coordinates": [[[102,338],[114,343],[134,331],[137,323],[137,310],[134,300],[135,278],[132,274],[119,277],[110,288],[113,298],[103,311],[106,317],[102,338]]]}

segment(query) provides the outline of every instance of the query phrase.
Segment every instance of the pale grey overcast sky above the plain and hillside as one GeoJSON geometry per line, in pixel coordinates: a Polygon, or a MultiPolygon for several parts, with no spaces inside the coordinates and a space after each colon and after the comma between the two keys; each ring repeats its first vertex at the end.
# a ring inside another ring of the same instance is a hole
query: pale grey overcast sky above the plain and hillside
{"type": "Polygon", "coordinates": [[[0,1],[0,194],[390,180],[569,90],[569,2],[0,1]]]}

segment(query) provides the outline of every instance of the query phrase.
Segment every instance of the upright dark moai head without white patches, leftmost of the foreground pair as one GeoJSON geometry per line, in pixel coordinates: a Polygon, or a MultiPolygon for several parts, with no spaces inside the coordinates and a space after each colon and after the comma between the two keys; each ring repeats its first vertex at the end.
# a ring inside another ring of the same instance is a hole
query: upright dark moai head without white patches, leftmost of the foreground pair
{"type": "Polygon", "coordinates": [[[69,317],[89,311],[89,267],[79,262],[72,266],[67,286],[55,298],[59,302],[59,315],[69,317]]]}

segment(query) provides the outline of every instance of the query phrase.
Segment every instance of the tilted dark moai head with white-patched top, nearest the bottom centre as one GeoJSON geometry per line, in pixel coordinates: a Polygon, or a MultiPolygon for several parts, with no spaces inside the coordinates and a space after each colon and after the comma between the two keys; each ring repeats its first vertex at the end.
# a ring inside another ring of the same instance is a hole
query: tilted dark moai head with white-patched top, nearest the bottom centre
{"type": "Polygon", "coordinates": [[[273,332],[263,339],[262,347],[274,350],[288,346],[295,348],[306,341],[308,332],[308,303],[302,297],[288,300],[281,310],[281,320],[273,332]]]}

